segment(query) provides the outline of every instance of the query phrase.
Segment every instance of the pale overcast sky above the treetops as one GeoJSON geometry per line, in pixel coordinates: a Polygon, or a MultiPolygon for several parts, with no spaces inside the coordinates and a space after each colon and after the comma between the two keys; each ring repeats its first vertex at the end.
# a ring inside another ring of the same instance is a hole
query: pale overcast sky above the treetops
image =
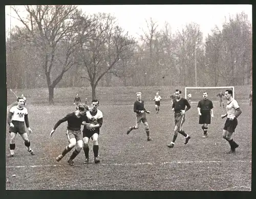
{"type": "MultiPolygon", "coordinates": [[[[23,6],[19,7],[22,13],[26,13],[23,6]]],[[[79,7],[88,14],[111,13],[118,19],[119,26],[135,37],[142,34],[141,28],[146,30],[145,19],[148,20],[150,17],[153,21],[157,21],[159,30],[167,21],[173,33],[185,27],[186,23],[196,22],[200,25],[204,38],[215,25],[222,28],[225,16],[228,19],[229,15],[235,16],[236,13],[243,11],[252,22],[251,5],[85,5],[79,7]]],[[[14,15],[13,11],[11,15],[14,15]]],[[[12,27],[20,26],[16,19],[10,18],[10,6],[6,6],[6,31],[9,31],[10,24],[12,27]]]]}

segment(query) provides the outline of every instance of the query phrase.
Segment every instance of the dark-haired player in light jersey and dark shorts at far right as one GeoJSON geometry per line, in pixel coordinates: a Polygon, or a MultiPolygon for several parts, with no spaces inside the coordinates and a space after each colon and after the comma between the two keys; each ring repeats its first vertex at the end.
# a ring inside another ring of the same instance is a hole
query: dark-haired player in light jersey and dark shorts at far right
{"type": "Polygon", "coordinates": [[[228,154],[234,154],[236,153],[236,148],[239,145],[236,142],[234,142],[231,136],[238,125],[237,118],[239,115],[241,115],[242,111],[236,99],[233,99],[232,90],[226,90],[225,97],[227,99],[227,106],[226,106],[227,113],[225,115],[221,115],[221,118],[227,117],[227,119],[223,128],[222,137],[225,140],[227,140],[230,145],[230,151],[228,152],[228,154]]]}

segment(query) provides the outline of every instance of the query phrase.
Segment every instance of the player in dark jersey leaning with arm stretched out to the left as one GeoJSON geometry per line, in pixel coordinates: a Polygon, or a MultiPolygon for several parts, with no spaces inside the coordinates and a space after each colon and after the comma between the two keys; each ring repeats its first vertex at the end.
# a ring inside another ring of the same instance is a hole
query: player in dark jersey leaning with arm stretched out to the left
{"type": "Polygon", "coordinates": [[[50,137],[52,136],[52,134],[55,132],[55,130],[61,123],[68,121],[66,135],[69,140],[69,145],[67,145],[65,147],[65,150],[63,150],[63,152],[56,158],[57,162],[59,162],[76,145],[75,151],[71,154],[68,160],[69,165],[71,166],[74,165],[73,160],[80,153],[82,149],[81,125],[84,120],[83,115],[86,113],[87,110],[88,110],[88,107],[84,107],[83,105],[78,105],[78,108],[76,111],[67,114],[65,117],[58,120],[57,123],[55,123],[50,133],[50,137]]]}

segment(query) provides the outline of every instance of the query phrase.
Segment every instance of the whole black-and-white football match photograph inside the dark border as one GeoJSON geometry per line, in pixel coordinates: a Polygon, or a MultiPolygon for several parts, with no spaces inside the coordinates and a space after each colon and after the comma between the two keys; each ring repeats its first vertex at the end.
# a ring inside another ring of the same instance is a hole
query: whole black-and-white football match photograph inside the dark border
{"type": "Polygon", "coordinates": [[[6,190],[251,191],[252,5],[6,5],[5,26],[6,190]]]}

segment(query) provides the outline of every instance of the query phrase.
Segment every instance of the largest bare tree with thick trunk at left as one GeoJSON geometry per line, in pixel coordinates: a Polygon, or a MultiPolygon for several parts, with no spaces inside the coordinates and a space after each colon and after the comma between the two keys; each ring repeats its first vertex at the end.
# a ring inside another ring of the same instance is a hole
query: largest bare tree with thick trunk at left
{"type": "Polygon", "coordinates": [[[74,37],[74,21],[80,16],[80,12],[76,6],[25,6],[27,17],[23,18],[16,7],[12,9],[27,30],[24,32],[20,29],[20,35],[32,41],[41,52],[42,68],[49,89],[49,104],[52,104],[55,86],[75,64],[72,55],[78,41],[74,37]],[[57,50],[63,47],[65,56],[57,56],[57,50]],[[56,57],[59,64],[56,63],[56,57]]]}

